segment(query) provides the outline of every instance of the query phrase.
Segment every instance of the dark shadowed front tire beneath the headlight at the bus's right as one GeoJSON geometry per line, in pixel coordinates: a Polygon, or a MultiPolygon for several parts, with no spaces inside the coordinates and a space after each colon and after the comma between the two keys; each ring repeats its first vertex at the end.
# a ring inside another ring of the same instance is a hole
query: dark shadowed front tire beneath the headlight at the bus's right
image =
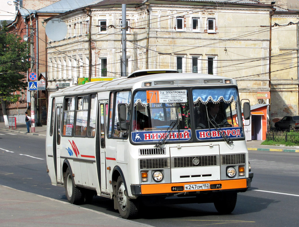
{"type": "Polygon", "coordinates": [[[219,192],[214,205],[220,214],[230,214],[237,203],[237,192],[219,192]]]}

